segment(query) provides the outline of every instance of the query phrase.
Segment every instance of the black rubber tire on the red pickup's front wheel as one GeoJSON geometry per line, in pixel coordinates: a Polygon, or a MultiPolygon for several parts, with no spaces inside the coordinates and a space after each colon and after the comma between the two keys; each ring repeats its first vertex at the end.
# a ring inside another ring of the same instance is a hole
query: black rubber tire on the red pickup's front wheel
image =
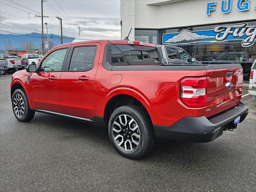
{"type": "Polygon", "coordinates": [[[28,99],[27,99],[26,93],[24,92],[23,89],[17,89],[17,90],[14,91],[14,93],[12,95],[12,110],[13,110],[13,113],[14,113],[14,116],[16,117],[16,119],[18,119],[21,122],[30,121],[34,117],[35,112],[30,110],[30,107],[29,107],[29,104],[28,104],[28,99]],[[24,107],[24,113],[19,116],[18,114],[16,114],[16,110],[14,108],[17,107],[17,105],[15,105],[15,103],[17,103],[16,98],[20,97],[20,96],[21,96],[21,98],[23,100],[23,103],[24,103],[22,105],[24,107]]]}

